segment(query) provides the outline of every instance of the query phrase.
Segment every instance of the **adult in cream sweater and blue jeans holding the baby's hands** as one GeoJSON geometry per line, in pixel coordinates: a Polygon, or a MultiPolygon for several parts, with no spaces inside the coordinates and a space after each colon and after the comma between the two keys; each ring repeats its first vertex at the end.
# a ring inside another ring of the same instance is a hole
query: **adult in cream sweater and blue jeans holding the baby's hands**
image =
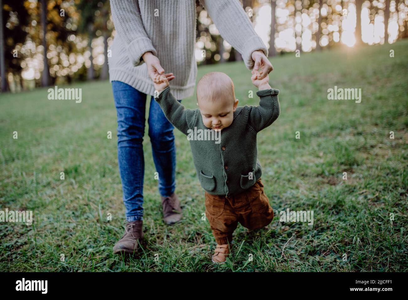
{"type": "MultiPolygon", "coordinates": [[[[248,69],[272,71],[268,50],[253,30],[238,0],[201,0],[221,36],[241,53],[248,69]]],[[[197,76],[195,61],[195,0],[111,0],[116,35],[109,58],[109,78],[118,116],[118,161],[122,180],[126,227],[114,253],[137,250],[143,238],[143,178],[146,96],[154,94],[151,79],[165,73],[175,98],[192,96],[197,76]]],[[[262,79],[261,78],[261,79],[262,79]]],[[[151,96],[149,137],[159,176],[164,220],[181,218],[175,194],[176,153],[173,125],[151,96]]]]}

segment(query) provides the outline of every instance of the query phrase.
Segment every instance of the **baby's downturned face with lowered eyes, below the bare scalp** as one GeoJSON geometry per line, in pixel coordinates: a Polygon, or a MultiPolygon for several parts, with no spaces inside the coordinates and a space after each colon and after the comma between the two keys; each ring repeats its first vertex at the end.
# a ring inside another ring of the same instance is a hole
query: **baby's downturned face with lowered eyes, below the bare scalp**
{"type": "Polygon", "coordinates": [[[203,123],[207,128],[221,131],[231,125],[234,111],[237,109],[238,99],[220,99],[214,102],[200,100],[200,107],[203,123]]]}

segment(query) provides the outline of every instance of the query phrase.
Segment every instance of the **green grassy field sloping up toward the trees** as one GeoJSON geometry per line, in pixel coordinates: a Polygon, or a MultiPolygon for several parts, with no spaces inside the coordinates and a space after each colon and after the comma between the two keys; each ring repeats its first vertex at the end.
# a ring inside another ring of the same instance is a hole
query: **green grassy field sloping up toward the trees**
{"type": "MultiPolygon", "coordinates": [[[[112,253],[124,205],[109,82],[72,86],[82,88],[78,104],[48,100],[47,89],[0,94],[0,210],[31,210],[34,218],[32,226],[0,223],[0,271],[408,271],[407,49],[402,40],[271,60],[281,114],[258,134],[258,158],[275,219],[257,231],[239,225],[221,266],[211,262],[204,190],[182,133],[175,130],[184,214],[169,226],[158,209],[146,124],[144,243],[126,260],[112,253]],[[334,86],[361,88],[361,103],[328,100],[334,86]],[[286,209],[313,210],[313,226],[279,222],[286,209]]],[[[239,105],[258,104],[242,62],[200,67],[197,81],[211,71],[232,78],[239,105]]],[[[182,103],[196,107],[194,96],[182,103]]]]}

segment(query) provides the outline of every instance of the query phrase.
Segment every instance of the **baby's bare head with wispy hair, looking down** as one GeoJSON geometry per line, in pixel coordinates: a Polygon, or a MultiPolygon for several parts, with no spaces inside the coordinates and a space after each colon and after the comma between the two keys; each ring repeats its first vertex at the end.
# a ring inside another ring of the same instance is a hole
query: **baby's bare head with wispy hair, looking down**
{"type": "Polygon", "coordinates": [[[197,104],[207,128],[220,131],[230,126],[238,104],[231,78],[222,72],[205,74],[197,83],[197,104]]]}

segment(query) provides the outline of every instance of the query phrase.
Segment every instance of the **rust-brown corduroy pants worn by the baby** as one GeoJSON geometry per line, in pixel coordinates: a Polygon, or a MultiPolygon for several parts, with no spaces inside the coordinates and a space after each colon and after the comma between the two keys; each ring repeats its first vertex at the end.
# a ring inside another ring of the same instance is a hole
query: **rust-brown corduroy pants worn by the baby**
{"type": "Polygon", "coordinates": [[[253,230],[265,227],[274,216],[261,178],[249,189],[231,197],[205,192],[205,207],[217,244],[231,243],[238,222],[253,230]]]}

